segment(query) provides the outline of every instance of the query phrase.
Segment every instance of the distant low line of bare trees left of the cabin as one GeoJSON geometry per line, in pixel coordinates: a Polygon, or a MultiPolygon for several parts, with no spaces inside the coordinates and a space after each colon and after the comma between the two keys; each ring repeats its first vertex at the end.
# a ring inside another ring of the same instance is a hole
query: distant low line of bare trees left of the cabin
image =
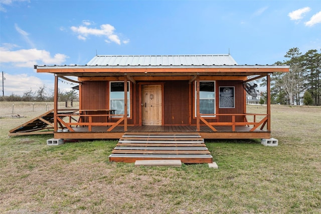
{"type": "MultiPolygon", "coordinates": [[[[73,99],[79,99],[76,90],[61,92],[58,89],[58,101],[64,102],[66,100],[71,101],[73,99]]],[[[37,91],[30,89],[29,91],[24,92],[22,96],[12,94],[10,96],[0,97],[0,101],[9,101],[9,102],[53,102],[54,101],[54,90],[46,90],[46,86],[40,86],[37,91]]]]}

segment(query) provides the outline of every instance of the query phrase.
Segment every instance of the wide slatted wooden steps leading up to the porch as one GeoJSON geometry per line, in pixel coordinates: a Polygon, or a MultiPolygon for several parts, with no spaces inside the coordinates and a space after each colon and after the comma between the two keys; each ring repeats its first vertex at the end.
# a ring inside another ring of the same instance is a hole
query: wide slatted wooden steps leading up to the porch
{"type": "Polygon", "coordinates": [[[181,160],[212,163],[213,157],[199,133],[124,133],[109,155],[109,161],[181,160]]]}

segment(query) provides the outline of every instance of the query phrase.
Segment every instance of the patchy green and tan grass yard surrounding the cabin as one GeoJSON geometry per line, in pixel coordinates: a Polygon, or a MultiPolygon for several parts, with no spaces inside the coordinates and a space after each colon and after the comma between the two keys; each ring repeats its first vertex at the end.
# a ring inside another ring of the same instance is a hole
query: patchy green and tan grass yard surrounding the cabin
{"type": "Polygon", "coordinates": [[[15,103],[14,114],[26,117],[13,118],[12,103],[0,102],[0,213],[321,212],[320,107],[272,106],[277,147],[259,139],[206,141],[219,166],[211,169],[109,162],[116,141],[47,146],[52,135],[7,138],[45,104],[15,103]]]}

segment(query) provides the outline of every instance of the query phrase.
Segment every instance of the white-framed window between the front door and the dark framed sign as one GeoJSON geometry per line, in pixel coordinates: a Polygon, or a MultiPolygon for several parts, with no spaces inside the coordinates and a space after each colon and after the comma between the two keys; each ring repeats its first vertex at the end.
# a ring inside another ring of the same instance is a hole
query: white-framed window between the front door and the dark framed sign
{"type": "MultiPolygon", "coordinates": [[[[196,85],[196,81],[195,81],[196,85]]],[[[196,117],[196,87],[195,87],[195,117],[196,117]]],[[[215,114],[215,81],[200,81],[200,113],[215,114]]],[[[207,115],[205,117],[215,117],[207,115]]]]}

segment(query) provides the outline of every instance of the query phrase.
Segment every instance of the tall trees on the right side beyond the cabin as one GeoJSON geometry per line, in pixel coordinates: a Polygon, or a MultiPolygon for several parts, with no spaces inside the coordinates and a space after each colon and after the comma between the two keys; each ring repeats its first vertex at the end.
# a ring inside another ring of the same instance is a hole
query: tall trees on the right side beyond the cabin
{"type": "MultiPolygon", "coordinates": [[[[271,103],[321,105],[321,53],[312,49],[302,54],[291,48],[284,57],[274,65],[288,65],[289,72],[271,75],[271,103]]],[[[266,80],[262,82],[266,85],[266,80]]]]}

